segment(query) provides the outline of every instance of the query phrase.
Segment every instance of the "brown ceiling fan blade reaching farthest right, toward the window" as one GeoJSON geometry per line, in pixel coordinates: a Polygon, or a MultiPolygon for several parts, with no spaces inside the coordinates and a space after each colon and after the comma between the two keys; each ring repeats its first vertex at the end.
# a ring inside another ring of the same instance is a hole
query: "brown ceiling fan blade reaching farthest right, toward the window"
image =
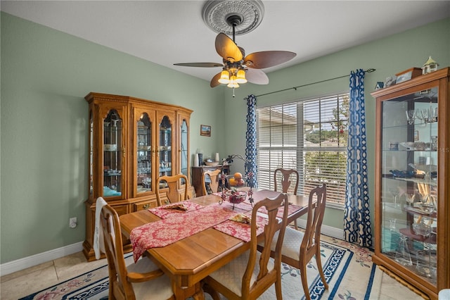
{"type": "Polygon", "coordinates": [[[261,51],[248,54],[244,58],[244,65],[248,68],[264,69],[290,61],[297,54],[290,51],[261,51]]]}

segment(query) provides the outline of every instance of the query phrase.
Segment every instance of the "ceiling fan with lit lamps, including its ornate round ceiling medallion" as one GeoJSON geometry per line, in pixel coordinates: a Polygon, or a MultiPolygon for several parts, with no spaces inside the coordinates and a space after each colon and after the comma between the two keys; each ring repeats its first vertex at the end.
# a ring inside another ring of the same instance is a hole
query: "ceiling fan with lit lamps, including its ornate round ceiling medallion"
{"type": "Polygon", "coordinates": [[[262,70],[285,63],[295,57],[290,51],[260,51],[245,56],[245,50],[236,45],[236,35],[254,30],[262,21],[264,6],[262,1],[250,0],[210,0],[203,6],[203,20],[215,32],[217,54],[223,63],[175,63],[187,67],[217,68],[220,73],[214,75],[210,87],[224,84],[233,89],[239,84],[252,82],[267,85],[269,77],[262,70]],[[233,39],[227,36],[233,35],[233,39]]]}

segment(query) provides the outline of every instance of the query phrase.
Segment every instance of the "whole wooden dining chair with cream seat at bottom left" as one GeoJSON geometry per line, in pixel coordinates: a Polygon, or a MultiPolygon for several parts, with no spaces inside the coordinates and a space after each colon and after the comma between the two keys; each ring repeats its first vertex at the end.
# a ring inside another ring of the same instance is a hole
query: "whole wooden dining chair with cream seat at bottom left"
{"type": "Polygon", "coordinates": [[[119,216],[108,204],[101,208],[100,223],[108,261],[108,299],[175,299],[170,278],[150,258],[126,265],[119,216]]]}

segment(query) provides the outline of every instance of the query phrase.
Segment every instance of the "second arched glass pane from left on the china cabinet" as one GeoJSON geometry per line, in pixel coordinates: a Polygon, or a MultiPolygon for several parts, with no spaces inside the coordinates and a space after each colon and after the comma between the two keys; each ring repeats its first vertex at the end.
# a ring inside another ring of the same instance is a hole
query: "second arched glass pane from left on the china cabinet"
{"type": "Polygon", "coordinates": [[[137,194],[152,190],[152,141],[152,123],[148,113],[142,113],[136,124],[137,194]]]}

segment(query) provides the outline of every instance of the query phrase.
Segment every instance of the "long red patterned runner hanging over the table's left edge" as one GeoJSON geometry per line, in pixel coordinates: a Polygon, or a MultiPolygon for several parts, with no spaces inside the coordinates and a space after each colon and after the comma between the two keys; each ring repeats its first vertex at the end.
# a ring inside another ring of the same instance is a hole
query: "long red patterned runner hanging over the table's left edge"
{"type": "Polygon", "coordinates": [[[136,227],[130,233],[134,261],[147,249],[167,246],[190,237],[236,214],[231,208],[213,204],[190,213],[174,213],[170,218],[136,227]]]}

